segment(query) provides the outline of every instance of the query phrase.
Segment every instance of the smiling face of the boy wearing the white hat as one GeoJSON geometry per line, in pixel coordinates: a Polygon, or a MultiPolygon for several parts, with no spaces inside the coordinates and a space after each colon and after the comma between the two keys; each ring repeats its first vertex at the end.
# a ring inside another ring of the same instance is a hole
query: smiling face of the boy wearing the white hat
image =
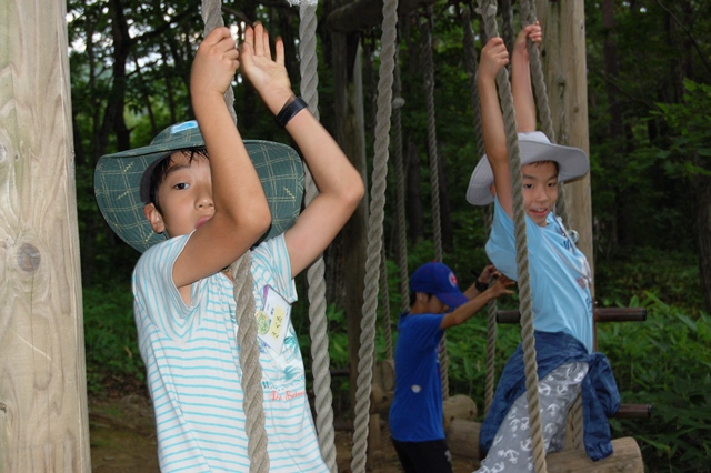
{"type": "Polygon", "coordinates": [[[551,161],[521,167],[523,209],[537,225],[545,227],[545,218],[558,199],[558,168],[551,161]]]}

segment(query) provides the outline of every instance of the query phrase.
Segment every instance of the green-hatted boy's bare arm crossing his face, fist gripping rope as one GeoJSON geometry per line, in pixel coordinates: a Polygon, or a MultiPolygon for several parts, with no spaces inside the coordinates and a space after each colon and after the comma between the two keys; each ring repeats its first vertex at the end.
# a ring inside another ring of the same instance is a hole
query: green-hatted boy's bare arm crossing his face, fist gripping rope
{"type": "Polygon", "coordinates": [[[173,281],[178,288],[236,261],[271,221],[259,177],[223,98],[238,66],[239,54],[228,28],[208,34],[192,64],[192,107],[210,158],[212,189],[206,198],[211,199],[214,213],[199,225],[176,261],[173,281]]]}

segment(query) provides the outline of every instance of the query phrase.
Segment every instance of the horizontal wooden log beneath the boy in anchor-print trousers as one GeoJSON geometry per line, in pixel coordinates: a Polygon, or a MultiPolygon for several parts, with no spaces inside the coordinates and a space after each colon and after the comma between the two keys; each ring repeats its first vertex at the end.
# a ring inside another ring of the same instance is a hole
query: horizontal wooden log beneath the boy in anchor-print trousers
{"type": "Polygon", "coordinates": [[[564,450],[545,456],[549,473],[602,473],[625,472],[643,473],[642,453],[634,439],[625,436],[612,441],[614,453],[607,459],[593,462],[584,450],[564,450]]]}

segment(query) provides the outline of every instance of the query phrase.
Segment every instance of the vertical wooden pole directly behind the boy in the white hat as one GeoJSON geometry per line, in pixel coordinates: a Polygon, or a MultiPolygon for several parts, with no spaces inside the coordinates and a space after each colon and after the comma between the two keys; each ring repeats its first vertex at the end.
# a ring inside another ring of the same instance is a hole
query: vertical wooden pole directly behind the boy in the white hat
{"type": "MultiPolygon", "coordinates": [[[[543,29],[543,74],[555,138],[559,144],[590,153],[584,1],[537,0],[535,9],[543,29]]],[[[593,270],[590,174],[565,184],[565,197],[569,227],[578,231],[578,248],[593,270]]]]}

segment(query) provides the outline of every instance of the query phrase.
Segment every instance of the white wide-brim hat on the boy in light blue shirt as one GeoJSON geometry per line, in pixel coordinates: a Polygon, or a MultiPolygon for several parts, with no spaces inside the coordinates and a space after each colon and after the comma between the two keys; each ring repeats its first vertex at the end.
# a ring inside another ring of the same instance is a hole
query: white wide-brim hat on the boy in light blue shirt
{"type": "MultiPolygon", "coordinates": [[[[519,133],[519,152],[521,165],[538,161],[555,161],[558,163],[558,182],[584,175],[590,169],[588,155],[580,148],[553,144],[541,131],[519,133]]],[[[472,205],[488,205],[493,202],[490,188],[493,184],[491,164],[484,154],[471,173],[467,201],[472,205]]]]}

